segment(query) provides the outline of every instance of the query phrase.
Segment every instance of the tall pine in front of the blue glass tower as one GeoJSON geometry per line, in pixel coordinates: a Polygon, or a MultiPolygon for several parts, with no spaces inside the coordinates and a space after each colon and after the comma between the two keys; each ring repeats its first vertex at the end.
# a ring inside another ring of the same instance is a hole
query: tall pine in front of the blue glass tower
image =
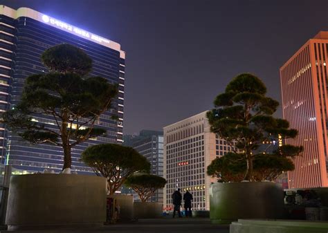
{"type": "Polygon", "coordinates": [[[26,77],[21,100],[3,113],[3,122],[24,140],[62,147],[63,169],[71,168],[72,147],[105,135],[94,125],[112,107],[118,87],[104,77],[89,77],[92,59],[70,44],[48,48],[41,59],[49,72],[26,77]],[[35,120],[40,114],[53,124],[35,120]]]}

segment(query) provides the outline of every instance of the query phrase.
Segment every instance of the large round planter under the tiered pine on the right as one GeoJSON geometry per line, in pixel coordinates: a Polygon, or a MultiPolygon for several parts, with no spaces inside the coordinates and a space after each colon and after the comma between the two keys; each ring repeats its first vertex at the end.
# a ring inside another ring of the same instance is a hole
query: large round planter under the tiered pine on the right
{"type": "Polygon", "coordinates": [[[276,183],[215,183],[210,187],[210,219],[228,224],[239,218],[282,218],[284,192],[276,183]]]}

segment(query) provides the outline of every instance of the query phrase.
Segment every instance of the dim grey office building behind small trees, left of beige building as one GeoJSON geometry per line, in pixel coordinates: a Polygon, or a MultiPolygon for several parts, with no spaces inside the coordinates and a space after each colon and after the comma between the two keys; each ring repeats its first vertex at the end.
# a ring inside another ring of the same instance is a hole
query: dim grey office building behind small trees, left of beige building
{"type": "MultiPolygon", "coordinates": [[[[150,162],[150,173],[163,177],[163,131],[142,130],[138,136],[124,136],[124,145],[133,147],[150,162]]],[[[125,193],[127,190],[125,189],[125,193]]],[[[134,194],[134,200],[139,198],[134,194]]],[[[158,189],[149,200],[163,203],[163,189],[158,189]]]]}

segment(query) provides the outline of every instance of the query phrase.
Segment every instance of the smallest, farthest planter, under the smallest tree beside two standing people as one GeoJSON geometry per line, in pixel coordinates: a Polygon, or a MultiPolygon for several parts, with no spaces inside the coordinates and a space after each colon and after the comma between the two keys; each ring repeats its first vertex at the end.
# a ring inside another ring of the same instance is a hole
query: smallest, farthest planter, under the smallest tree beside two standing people
{"type": "Polygon", "coordinates": [[[161,218],[163,203],[134,203],[134,218],[161,218]]]}

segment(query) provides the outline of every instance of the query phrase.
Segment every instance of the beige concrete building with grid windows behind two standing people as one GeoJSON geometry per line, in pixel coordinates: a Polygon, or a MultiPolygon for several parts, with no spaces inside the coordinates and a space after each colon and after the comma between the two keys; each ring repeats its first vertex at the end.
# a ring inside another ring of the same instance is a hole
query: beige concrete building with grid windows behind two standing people
{"type": "Polygon", "coordinates": [[[210,209],[210,183],[206,168],[217,156],[224,156],[231,147],[210,132],[206,111],[164,127],[164,208],[172,209],[172,193],[189,190],[193,209],[210,209]]]}

